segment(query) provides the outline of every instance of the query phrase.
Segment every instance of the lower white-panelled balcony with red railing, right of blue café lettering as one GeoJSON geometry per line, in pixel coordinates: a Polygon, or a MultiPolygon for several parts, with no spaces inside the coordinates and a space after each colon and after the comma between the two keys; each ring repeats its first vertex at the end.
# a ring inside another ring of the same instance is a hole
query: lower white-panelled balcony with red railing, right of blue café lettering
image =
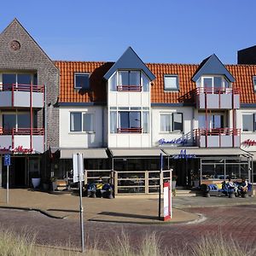
{"type": "Polygon", "coordinates": [[[195,145],[200,148],[236,148],[241,144],[241,129],[195,129],[195,145]]]}

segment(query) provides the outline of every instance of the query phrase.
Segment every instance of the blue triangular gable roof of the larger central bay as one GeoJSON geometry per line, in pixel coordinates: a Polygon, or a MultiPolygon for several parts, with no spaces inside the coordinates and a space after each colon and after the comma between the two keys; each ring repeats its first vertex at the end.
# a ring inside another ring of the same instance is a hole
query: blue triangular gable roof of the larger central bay
{"type": "Polygon", "coordinates": [[[148,69],[148,67],[144,64],[144,62],[140,59],[140,57],[136,54],[136,52],[128,47],[125,50],[125,53],[120,56],[119,60],[113,64],[108,70],[108,73],[104,75],[104,79],[108,80],[110,77],[119,69],[139,69],[143,70],[143,72],[148,76],[148,78],[152,81],[155,79],[154,74],[148,69]]]}

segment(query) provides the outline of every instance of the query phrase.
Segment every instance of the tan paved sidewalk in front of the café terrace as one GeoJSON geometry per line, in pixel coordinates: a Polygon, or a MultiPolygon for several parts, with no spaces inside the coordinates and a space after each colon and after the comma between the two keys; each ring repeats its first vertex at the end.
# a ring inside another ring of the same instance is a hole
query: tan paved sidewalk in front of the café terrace
{"type": "MultiPolygon", "coordinates": [[[[6,189],[0,189],[0,207],[37,210],[54,218],[79,218],[79,196],[49,194],[30,189],[9,189],[9,204],[6,204],[6,189]]],[[[163,203],[163,202],[162,202],[163,203]]],[[[205,207],[256,203],[250,198],[219,197],[174,197],[171,223],[189,222],[199,215],[186,212],[188,207],[205,207]]],[[[83,197],[84,220],[119,223],[163,224],[158,220],[158,200],[145,198],[87,198],[83,197]]]]}

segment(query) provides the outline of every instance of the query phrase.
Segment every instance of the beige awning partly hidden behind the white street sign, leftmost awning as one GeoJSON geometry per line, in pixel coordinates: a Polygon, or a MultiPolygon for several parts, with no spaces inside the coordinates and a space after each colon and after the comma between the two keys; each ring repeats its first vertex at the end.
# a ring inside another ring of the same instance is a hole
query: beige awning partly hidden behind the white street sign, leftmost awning
{"type": "Polygon", "coordinates": [[[71,159],[73,154],[82,153],[84,159],[106,159],[106,148],[61,148],[61,159],[71,159]]]}

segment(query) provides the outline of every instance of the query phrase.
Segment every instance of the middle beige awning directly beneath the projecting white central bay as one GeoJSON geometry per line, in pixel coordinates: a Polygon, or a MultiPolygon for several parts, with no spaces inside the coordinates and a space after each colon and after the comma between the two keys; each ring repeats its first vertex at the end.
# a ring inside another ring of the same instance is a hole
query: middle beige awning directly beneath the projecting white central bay
{"type": "Polygon", "coordinates": [[[110,148],[110,153],[113,157],[146,157],[146,156],[160,156],[165,154],[160,148],[110,148]]]}

